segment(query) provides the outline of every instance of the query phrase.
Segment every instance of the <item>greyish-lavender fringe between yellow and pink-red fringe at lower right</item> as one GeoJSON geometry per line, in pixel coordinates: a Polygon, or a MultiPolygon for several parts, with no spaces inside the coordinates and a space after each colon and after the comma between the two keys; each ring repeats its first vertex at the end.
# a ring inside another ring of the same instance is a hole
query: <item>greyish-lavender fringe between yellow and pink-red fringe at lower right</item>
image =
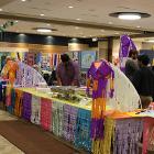
{"type": "Polygon", "coordinates": [[[141,119],[116,120],[113,154],[139,154],[136,143],[141,141],[143,122],[141,119]]]}

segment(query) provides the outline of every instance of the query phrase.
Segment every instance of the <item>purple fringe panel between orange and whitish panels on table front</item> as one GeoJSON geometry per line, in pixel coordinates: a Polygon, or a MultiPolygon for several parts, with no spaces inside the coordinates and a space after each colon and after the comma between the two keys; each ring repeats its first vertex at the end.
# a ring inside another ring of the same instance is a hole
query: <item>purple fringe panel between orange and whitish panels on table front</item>
{"type": "Polygon", "coordinates": [[[24,92],[22,117],[28,121],[31,121],[31,101],[32,101],[32,95],[24,92]]]}

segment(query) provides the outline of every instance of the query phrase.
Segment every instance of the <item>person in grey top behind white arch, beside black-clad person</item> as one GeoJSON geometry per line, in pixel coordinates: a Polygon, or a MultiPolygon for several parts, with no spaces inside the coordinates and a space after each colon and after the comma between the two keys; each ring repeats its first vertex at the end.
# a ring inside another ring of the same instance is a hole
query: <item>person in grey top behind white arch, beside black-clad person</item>
{"type": "Polygon", "coordinates": [[[138,51],[130,51],[129,59],[125,63],[125,76],[132,81],[133,75],[138,69],[138,51]]]}

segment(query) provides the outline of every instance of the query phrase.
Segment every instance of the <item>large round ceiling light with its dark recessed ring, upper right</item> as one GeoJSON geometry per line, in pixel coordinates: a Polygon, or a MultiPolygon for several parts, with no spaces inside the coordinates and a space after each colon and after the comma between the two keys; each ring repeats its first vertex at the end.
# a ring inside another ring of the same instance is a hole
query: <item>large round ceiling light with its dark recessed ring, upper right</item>
{"type": "Polygon", "coordinates": [[[119,18],[120,20],[130,20],[130,21],[151,16],[151,14],[142,12],[114,12],[110,13],[109,15],[113,18],[119,18]]]}

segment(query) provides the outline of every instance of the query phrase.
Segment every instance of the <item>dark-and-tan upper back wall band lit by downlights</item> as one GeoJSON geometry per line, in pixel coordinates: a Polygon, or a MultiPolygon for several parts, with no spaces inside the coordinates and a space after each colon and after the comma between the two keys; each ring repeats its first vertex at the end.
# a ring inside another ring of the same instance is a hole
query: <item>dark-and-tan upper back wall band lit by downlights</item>
{"type": "Polygon", "coordinates": [[[90,38],[4,32],[0,37],[0,47],[2,47],[0,52],[65,53],[68,51],[91,51],[97,47],[97,44],[94,44],[90,38]]]}

